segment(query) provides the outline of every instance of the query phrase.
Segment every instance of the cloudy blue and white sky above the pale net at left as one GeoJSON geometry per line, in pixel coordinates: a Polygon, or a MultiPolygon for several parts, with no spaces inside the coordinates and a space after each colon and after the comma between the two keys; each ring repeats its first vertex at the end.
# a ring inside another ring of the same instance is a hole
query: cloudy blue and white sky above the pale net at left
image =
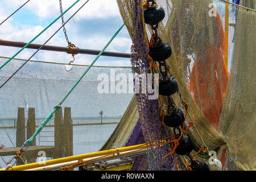
{"type": "MultiPolygon", "coordinates": [[[[0,0],[0,22],[18,9],[27,0],[0,0]]],[[[76,0],[62,0],[63,11],[68,9],[76,0]]],[[[66,14],[67,20],[86,0],[80,0],[66,14]]],[[[29,42],[40,31],[60,15],[59,0],[30,0],[11,18],[0,26],[0,39],[18,42],[29,42]]],[[[115,31],[123,24],[116,0],[90,0],[65,25],[69,41],[79,48],[102,49],[115,31]]],[[[43,44],[59,27],[61,18],[48,28],[34,42],[43,44]]],[[[52,46],[67,46],[64,32],[61,29],[47,43],[52,46]]],[[[130,52],[131,39],[126,27],[113,40],[106,51],[130,52]]],[[[0,56],[11,57],[20,48],[0,46],[0,56]]],[[[28,59],[35,49],[24,49],[16,58],[28,59]]],[[[76,55],[75,64],[90,64],[96,56],[76,55]]],[[[39,51],[31,60],[54,61],[69,63],[72,56],[65,52],[39,51]]],[[[125,58],[101,56],[94,65],[130,66],[130,60],[125,58]]]]}

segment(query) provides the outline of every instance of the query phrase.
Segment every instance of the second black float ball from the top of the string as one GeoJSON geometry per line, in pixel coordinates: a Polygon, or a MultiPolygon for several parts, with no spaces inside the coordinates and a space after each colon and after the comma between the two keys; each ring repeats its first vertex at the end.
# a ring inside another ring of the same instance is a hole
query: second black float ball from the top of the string
{"type": "Polygon", "coordinates": [[[163,42],[162,46],[151,47],[148,55],[150,55],[154,61],[164,61],[172,55],[172,49],[169,44],[163,42]]]}

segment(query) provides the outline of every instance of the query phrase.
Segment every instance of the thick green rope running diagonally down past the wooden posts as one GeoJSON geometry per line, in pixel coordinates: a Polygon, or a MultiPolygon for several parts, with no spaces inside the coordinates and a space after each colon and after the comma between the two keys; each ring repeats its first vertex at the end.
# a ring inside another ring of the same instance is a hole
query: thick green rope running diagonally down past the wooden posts
{"type": "Polygon", "coordinates": [[[32,142],[32,140],[36,137],[36,135],[38,135],[40,133],[40,131],[43,129],[43,127],[49,122],[49,120],[53,117],[53,115],[55,114],[55,112],[57,110],[60,109],[61,104],[63,104],[63,102],[65,101],[65,99],[69,96],[69,94],[73,91],[73,89],[75,89],[75,87],[77,86],[77,84],[79,84],[79,82],[82,80],[82,78],[85,76],[85,74],[89,71],[89,69],[93,66],[93,64],[98,60],[98,58],[102,55],[102,53],[105,51],[105,49],[109,46],[109,44],[112,42],[112,40],[115,38],[115,36],[117,36],[117,34],[119,33],[119,31],[121,31],[121,29],[123,28],[123,26],[125,26],[125,24],[123,24],[117,32],[115,32],[115,34],[113,35],[113,37],[109,40],[109,42],[106,44],[106,46],[101,50],[100,53],[98,53],[98,55],[96,56],[96,58],[92,61],[92,63],[89,65],[89,67],[85,70],[85,72],[82,74],[82,76],[76,81],[75,85],[72,86],[72,88],[69,90],[69,92],[65,95],[65,97],[59,102],[58,105],[56,105],[54,107],[54,110],[51,112],[51,114],[48,115],[48,117],[46,119],[44,119],[43,123],[38,127],[38,129],[36,129],[35,133],[32,135],[32,137],[30,137],[30,139],[28,139],[28,144],[30,144],[32,142]]]}

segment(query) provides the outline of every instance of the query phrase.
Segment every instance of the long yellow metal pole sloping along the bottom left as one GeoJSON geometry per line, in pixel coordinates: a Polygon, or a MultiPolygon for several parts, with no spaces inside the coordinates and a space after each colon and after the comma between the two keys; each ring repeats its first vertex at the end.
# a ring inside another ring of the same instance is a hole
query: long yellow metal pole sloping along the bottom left
{"type": "MultiPolygon", "coordinates": [[[[118,152],[136,150],[136,149],[145,148],[145,147],[147,147],[146,144],[138,144],[135,146],[121,147],[121,148],[118,148],[118,152]]],[[[88,154],[68,156],[66,158],[46,160],[44,162],[37,162],[37,163],[31,163],[31,164],[24,164],[24,165],[20,165],[20,166],[14,166],[13,168],[9,168],[8,171],[23,171],[23,170],[27,170],[27,169],[49,166],[49,165],[53,165],[53,164],[71,162],[73,160],[82,160],[82,159],[93,158],[93,157],[102,156],[102,155],[110,155],[110,154],[113,154],[114,152],[117,152],[117,148],[112,149],[112,150],[92,152],[92,153],[88,153],[88,154]]],[[[0,169],[0,171],[4,171],[4,170],[5,170],[5,168],[0,169]]]]}

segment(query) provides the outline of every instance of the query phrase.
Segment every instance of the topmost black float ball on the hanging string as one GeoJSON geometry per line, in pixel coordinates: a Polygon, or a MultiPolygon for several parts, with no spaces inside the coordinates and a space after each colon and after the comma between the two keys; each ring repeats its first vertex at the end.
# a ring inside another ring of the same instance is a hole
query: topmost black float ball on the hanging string
{"type": "Polygon", "coordinates": [[[145,23],[150,25],[160,23],[165,15],[164,9],[158,5],[156,5],[155,8],[147,8],[144,10],[145,23]]]}

